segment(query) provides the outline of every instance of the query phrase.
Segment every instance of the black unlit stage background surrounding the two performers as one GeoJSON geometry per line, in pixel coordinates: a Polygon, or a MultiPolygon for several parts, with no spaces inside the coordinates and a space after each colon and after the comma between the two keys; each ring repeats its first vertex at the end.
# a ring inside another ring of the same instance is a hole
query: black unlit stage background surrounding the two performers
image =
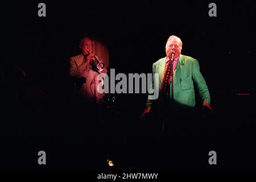
{"type": "MultiPolygon", "coordinates": [[[[43,101],[36,101],[43,111],[31,111],[28,116],[20,107],[14,108],[8,89],[3,89],[1,168],[86,168],[79,157],[83,156],[82,143],[74,144],[71,135],[75,131],[69,130],[76,121],[65,115],[71,107],[68,59],[79,54],[79,40],[85,34],[109,48],[110,68],[116,73],[151,73],[152,63],[165,56],[168,37],[179,36],[183,55],[200,63],[215,113],[199,122],[198,129],[204,130],[199,151],[206,161],[199,168],[256,168],[253,1],[216,1],[217,17],[208,16],[210,1],[44,2],[47,16],[43,18],[38,16],[38,3],[2,2],[0,6],[3,72],[9,73],[10,65],[18,64],[26,71],[27,84],[45,93],[43,101]],[[37,165],[39,150],[49,153],[47,161],[52,163],[48,162],[48,168],[37,165]],[[217,151],[217,167],[207,164],[210,150],[217,151]]],[[[120,168],[143,169],[146,164],[132,164],[131,159],[141,159],[142,152],[135,148],[140,142],[150,143],[158,127],[152,119],[138,119],[147,94],[115,97],[119,113],[105,118],[114,125],[115,156],[120,168]]],[[[104,134],[101,137],[105,138],[104,134]]]]}

